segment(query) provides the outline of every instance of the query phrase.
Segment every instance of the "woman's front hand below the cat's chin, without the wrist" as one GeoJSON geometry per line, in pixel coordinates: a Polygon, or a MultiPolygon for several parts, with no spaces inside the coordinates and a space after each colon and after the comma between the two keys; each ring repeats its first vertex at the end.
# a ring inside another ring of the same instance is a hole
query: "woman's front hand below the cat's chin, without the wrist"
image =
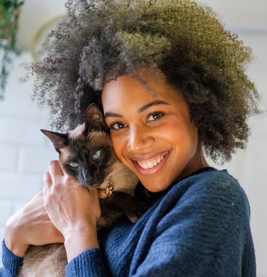
{"type": "MultiPolygon", "coordinates": [[[[43,197],[46,211],[52,223],[66,238],[68,232],[95,226],[101,216],[97,189],[87,189],[62,172],[59,161],[48,163],[44,174],[43,197]]],[[[103,195],[102,195],[103,197],[103,195]]]]}

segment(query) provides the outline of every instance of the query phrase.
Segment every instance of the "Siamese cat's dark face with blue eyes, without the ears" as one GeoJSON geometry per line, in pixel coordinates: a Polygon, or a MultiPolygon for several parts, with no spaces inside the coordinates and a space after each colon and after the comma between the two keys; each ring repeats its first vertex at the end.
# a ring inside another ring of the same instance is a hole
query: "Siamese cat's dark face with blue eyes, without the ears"
{"type": "Polygon", "coordinates": [[[60,161],[68,175],[96,188],[109,176],[117,158],[105,132],[91,131],[87,135],[82,129],[77,127],[69,133],[68,144],[60,150],[60,161]]]}

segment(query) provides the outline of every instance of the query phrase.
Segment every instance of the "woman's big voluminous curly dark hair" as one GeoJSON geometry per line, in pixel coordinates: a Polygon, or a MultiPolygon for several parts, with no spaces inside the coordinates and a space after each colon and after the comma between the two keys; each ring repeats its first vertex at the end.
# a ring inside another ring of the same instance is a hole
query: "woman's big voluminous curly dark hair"
{"type": "Polygon", "coordinates": [[[32,99],[50,107],[54,129],[83,122],[87,106],[101,105],[103,86],[117,76],[146,85],[145,71],[136,69],[149,65],[182,94],[215,163],[246,147],[246,120],[263,113],[245,74],[252,50],[224,30],[210,7],[190,0],[68,0],[65,6],[39,59],[25,65],[35,76],[32,99]]]}

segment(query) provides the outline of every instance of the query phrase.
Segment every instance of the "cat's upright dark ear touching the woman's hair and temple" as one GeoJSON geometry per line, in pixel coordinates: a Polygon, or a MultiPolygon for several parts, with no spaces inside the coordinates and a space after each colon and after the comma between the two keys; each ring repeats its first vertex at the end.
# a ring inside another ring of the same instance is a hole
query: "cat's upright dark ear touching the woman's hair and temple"
{"type": "Polygon", "coordinates": [[[89,105],[85,112],[85,118],[84,118],[84,130],[103,130],[108,131],[108,127],[105,122],[105,118],[103,114],[101,113],[101,110],[97,107],[95,104],[89,105]]]}

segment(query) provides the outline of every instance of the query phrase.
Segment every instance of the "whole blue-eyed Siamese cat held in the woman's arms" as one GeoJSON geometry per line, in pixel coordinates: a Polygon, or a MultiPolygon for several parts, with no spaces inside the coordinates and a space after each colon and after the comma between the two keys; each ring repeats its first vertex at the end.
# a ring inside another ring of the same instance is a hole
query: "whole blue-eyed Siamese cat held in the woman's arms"
{"type": "MultiPolygon", "coordinates": [[[[104,117],[95,104],[87,108],[84,123],[68,133],[41,131],[59,153],[63,172],[88,189],[106,189],[108,196],[99,201],[101,216],[109,226],[123,215],[135,223],[149,208],[147,202],[134,196],[139,180],[117,158],[104,117]]],[[[63,243],[31,245],[18,277],[65,277],[67,263],[63,243]]]]}

